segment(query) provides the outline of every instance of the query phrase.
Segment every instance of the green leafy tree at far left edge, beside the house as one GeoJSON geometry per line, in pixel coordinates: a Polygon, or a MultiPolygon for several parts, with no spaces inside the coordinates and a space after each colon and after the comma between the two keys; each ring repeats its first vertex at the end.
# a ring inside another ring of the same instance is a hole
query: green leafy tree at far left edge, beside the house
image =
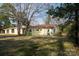
{"type": "Polygon", "coordinates": [[[4,22],[4,28],[11,26],[8,12],[9,12],[8,6],[6,4],[2,4],[0,7],[0,20],[4,22]]]}

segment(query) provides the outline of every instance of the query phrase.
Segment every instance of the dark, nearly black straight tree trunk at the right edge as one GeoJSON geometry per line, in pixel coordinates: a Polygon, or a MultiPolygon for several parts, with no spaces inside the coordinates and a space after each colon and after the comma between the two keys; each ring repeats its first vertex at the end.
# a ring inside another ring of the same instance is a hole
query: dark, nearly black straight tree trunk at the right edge
{"type": "Polygon", "coordinates": [[[78,9],[75,10],[75,43],[76,45],[79,45],[79,38],[78,38],[78,9]]]}

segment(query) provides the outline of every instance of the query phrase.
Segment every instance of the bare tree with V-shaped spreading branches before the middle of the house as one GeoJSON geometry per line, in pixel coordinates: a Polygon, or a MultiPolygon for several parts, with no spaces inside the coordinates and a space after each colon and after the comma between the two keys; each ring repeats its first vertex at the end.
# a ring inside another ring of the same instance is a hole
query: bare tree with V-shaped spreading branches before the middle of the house
{"type": "MultiPolygon", "coordinates": [[[[45,7],[45,4],[33,4],[33,3],[27,3],[27,4],[17,4],[17,7],[21,8],[21,19],[23,25],[25,25],[25,34],[29,32],[30,24],[32,21],[34,21],[36,15],[44,10],[43,7],[45,7]]],[[[19,9],[18,8],[18,9],[19,9]]]]}

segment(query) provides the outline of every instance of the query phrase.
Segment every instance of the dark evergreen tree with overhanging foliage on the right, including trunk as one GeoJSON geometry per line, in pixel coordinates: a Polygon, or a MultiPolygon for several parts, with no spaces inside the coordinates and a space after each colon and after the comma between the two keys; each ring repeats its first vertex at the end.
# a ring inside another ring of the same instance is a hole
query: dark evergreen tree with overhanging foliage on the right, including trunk
{"type": "MultiPolygon", "coordinates": [[[[79,45],[79,38],[78,38],[78,12],[79,12],[79,4],[70,3],[70,4],[60,4],[60,7],[57,7],[57,9],[54,9],[54,12],[51,12],[54,16],[59,16],[62,18],[68,18],[66,24],[70,24],[71,21],[74,22],[74,37],[75,38],[75,44],[79,45]],[[74,20],[73,20],[74,19],[74,20]]],[[[50,13],[49,13],[50,14],[50,13]]],[[[72,28],[71,28],[72,29],[72,28]]],[[[71,35],[72,35],[71,33],[71,35]]]]}

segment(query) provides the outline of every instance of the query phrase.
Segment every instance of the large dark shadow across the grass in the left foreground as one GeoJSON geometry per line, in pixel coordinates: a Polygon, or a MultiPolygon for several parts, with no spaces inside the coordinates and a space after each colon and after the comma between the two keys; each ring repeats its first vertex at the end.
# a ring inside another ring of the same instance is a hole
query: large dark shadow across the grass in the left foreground
{"type": "Polygon", "coordinates": [[[49,48],[38,50],[39,44],[30,40],[0,40],[0,56],[48,56],[49,48]]]}

